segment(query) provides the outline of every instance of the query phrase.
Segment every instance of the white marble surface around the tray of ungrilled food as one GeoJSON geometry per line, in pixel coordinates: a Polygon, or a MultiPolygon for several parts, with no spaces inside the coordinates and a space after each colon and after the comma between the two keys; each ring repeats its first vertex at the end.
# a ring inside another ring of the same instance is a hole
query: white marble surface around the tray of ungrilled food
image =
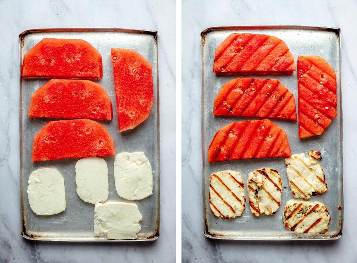
{"type": "Polygon", "coordinates": [[[175,1],[0,1],[0,262],[174,262],[175,1]],[[33,242],[20,235],[19,41],[49,27],[115,27],[159,32],[160,237],[140,243],[33,242]]]}

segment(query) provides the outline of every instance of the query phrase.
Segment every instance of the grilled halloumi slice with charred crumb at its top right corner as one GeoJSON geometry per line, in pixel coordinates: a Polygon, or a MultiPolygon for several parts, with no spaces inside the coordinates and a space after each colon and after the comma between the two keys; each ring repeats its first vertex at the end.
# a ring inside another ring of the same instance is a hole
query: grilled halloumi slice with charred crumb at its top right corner
{"type": "Polygon", "coordinates": [[[301,153],[285,158],[286,174],[295,198],[310,199],[312,195],[321,195],[327,191],[325,175],[316,160],[320,152],[312,150],[309,155],[311,156],[306,158],[305,154],[301,153]]]}

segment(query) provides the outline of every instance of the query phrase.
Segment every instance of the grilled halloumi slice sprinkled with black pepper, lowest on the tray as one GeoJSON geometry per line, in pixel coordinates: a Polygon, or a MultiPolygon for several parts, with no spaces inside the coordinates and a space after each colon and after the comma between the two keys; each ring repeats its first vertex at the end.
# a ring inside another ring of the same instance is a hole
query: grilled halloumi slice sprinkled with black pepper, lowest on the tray
{"type": "Polygon", "coordinates": [[[326,233],[330,218],[323,203],[295,199],[286,202],[282,217],[284,226],[298,233],[326,233]]]}

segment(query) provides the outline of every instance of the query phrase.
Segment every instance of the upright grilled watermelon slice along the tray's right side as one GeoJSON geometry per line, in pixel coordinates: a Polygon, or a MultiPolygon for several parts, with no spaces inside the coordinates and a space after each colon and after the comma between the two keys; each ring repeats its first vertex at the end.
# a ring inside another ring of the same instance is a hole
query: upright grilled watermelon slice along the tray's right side
{"type": "Polygon", "coordinates": [[[299,137],[320,135],[337,116],[337,83],[333,68],[319,56],[299,56],[299,137]]]}

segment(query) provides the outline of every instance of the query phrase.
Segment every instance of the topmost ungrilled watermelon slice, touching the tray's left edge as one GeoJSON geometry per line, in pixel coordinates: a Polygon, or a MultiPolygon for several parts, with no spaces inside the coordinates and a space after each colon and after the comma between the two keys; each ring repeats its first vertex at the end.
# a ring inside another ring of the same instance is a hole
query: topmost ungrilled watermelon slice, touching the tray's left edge
{"type": "Polygon", "coordinates": [[[101,78],[102,56],[81,39],[44,38],[25,53],[21,76],[101,78]]]}

